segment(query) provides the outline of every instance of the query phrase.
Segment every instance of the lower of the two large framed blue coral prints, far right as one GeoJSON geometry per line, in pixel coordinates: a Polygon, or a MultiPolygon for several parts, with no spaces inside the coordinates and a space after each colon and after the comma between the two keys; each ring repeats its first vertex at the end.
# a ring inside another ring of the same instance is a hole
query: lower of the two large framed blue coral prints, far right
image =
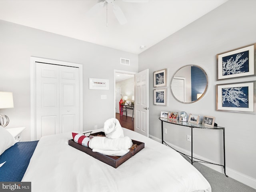
{"type": "Polygon", "coordinates": [[[216,110],[255,113],[256,81],[216,85],[216,110]]]}

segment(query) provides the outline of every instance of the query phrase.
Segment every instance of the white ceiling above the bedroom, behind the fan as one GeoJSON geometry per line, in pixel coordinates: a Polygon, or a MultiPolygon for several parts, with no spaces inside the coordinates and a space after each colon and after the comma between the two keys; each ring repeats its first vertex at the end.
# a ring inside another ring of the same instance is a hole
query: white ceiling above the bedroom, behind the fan
{"type": "Polygon", "coordinates": [[[0,0],[0,20],[140,54],[227,0],[115,0],[128,22],[108,6],[86,14],[99,0],[0,0]],[[140,46],[146,46],[140,49],[140,46]]]}

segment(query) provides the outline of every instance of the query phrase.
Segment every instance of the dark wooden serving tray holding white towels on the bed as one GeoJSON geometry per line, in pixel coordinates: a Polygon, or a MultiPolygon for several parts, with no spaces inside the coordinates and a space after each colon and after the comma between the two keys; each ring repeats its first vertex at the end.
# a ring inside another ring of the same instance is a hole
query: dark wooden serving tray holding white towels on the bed
{"type": "MultiPolygon", "coordinates": [[[[104,132],[97,132],[94,134],[91,134],[92,136],[105,136],[104,132]]],[[[140,150],[142,150],[145,146],[144,143],[136,140],[132,140],[132,147],[130,148],[130,152],[126,153],[124,156],[108,156],[108,155],[103,155],[98,152],[93,152],[91,148],[82,146],[76,142],[74,142],[73,139],[68,140],[68,144],[82,152],[87,153],[88,155],[114,167],[117,168],[120,166],[122,163],[126,162],[129,158],[134,156],[136,153],[138,153],[140,150]]]]}

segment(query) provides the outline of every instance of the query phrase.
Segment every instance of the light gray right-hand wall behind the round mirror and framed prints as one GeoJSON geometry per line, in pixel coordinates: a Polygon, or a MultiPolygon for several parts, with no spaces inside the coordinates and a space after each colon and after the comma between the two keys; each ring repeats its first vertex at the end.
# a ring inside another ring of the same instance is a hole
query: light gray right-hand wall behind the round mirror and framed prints
{"type": "MultiPolygon", "coordinates": [[[[139,71],[149,68],[149,133],[161,138],[161,111],[215,116],[218,126],[225,127],[226,173],[256,188],[256,114],[216,111],[216,84],[256,80],[256,76],[216,81],[216,54],[256,42],[256,1],[228,1],[175,34],[139,54],[139,71]],[[182,104],[170,92],[170,81],[181,66],[202,67],[209,84],[198,102],[182,104]],[[167,68],[167,106],[153,104],[153,72],[167,68]]],[[[254,97],[255,98],[255,97],[254,97]]],[[[190,128],[164,124],[164,139],[190,151],[186,134],[190,128]]],[[[217,163],[222,160],[222,132],[194,130],[194,153],[217,163]]],[[[216,166],[215,166],[216,167],[216,166]]]]}

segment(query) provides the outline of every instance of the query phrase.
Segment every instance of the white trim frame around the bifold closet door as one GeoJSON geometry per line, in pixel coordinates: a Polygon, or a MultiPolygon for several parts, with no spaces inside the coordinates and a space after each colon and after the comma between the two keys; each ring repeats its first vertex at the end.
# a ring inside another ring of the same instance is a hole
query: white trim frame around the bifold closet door
{"type": "Polygon", "coordinates": [[[30,137],[36,138],[36,62],[79,68],[79,130],[83,131],[83,65],[30,56],[30,137]]]}

